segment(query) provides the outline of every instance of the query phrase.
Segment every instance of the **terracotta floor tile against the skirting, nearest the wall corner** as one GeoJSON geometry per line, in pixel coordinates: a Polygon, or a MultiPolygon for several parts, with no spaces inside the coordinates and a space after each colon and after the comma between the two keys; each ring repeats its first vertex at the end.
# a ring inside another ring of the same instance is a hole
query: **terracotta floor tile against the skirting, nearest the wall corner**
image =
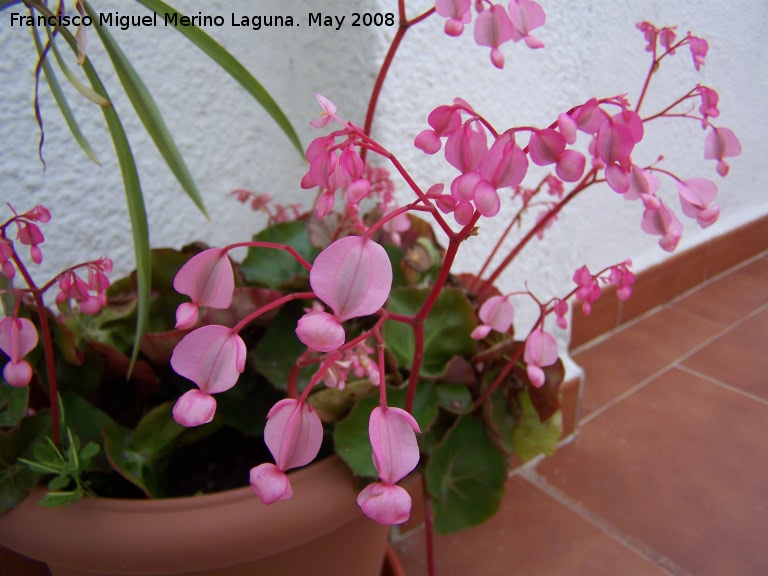
{"type": "Polygon", "coordinates": [[[584,368],[582,415],[607,404],[717,335],[720,327],[662,308],[573,356],[584,368]]]}

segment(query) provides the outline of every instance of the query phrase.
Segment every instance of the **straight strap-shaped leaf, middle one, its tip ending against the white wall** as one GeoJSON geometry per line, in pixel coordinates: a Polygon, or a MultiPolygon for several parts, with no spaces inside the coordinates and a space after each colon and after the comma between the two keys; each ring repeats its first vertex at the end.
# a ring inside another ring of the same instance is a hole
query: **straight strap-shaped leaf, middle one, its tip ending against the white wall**
{"type": "Polygon", "coordinates": [[[165,163],[168,164],[171,172],[176,176],[179,184],[181,184],[182,188],[184,188],[185,192],[197,205],[200,211],[203,214],[206,214],[205,206],[203,205],[203,200],[197,189],[197,185],[195,184],[187,165],[184,163],[184,159],[181,157],[181,153],[176,147],[176,143],[165,125],[163,116],[160,114],[144,81],[133,68],[133,65],[128,58],[126,58],[118,43],[115,42],[115,39],[112,37],[109,30],[105,26],[97,24],[99,19],[98,14],[94,11],[91,5],[84,0],[83,6],[85,7],[86,13],[93,18],[93,26],[96,29],[96,33],[99,35],[101,43],[107,50],[107,54],[109,54],[109,58],[112,60],[112,65],[115,67],[115,72],[117,72],[117,76],[120,78],[123,89],[131,100],[131,104],[133,104],[133,107],[136,109],[136,113],[144,124],[144,128],[152,137],[152,140],[155,141],[157,149],[160,151],[160,154],[162,154],[163,159],[165,160],[165,163]]]}

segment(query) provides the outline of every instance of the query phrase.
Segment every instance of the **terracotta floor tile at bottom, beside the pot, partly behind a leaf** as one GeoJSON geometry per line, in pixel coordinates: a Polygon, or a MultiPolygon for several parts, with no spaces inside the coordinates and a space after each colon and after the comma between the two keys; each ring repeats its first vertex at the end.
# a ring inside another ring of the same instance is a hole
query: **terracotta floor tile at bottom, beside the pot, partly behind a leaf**
{"type": "MultiPolygon", "coordinates": [[[[435,545],[439,576],[666,574],[517,476],[498,515],[435,545]]],[[[395,548],[407,576],[426,575],[423,531],[395,548]]]]}

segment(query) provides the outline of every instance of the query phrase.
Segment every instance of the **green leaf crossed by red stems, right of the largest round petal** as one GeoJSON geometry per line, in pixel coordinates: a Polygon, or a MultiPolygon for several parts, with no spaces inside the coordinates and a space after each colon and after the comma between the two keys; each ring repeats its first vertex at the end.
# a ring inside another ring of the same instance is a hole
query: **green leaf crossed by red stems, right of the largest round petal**
{"type": "MultiPolygon", "coordinates": [[[[396,314],[413,315],[421,308],[428,294],[428,289],[393,289],[387,309],[396,314]]],[[[464,293],[453,288],[444,289],[424,323],[421,375],[440,375],[454,356],[471,356],[476,346],[470,336],[475,323],[472,306],[464,293]]],[[[387,321],[384,325],[384,339],[400,365],[410,367],[414,351],[413,329],[407,324],[387,321]]]]}

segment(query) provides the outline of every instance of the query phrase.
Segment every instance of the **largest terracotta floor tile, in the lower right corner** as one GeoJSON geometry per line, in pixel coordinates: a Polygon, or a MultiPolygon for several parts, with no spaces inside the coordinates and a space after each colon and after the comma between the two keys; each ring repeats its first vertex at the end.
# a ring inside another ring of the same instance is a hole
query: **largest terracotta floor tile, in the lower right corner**
{"type": "Polygon", "coordinates": [[[766,422],[764,403],[673,369],[537,472],[673,573],[768,574],[766,422]]]}

